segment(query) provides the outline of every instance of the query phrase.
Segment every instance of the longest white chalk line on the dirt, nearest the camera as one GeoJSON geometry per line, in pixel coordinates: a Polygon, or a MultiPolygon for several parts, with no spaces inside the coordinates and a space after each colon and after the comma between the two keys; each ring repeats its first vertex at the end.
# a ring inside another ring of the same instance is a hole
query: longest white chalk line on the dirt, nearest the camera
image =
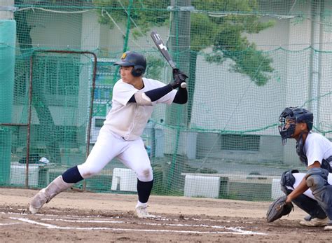
{"type": "Polygon", "coordinates": [[[178,232],[178,233],[194,233],[194,234],[235,234],[235,235],[267,235],[261,232],[253,232],[249,230],[236,229],[235,232],[223,232],[223,231],[197,231],[197,230],[147,230],[147,229],[130,229],[130,228],[108,228],[108,227],[62,227],[57,225],[52,225],[49,223],[40,223],[33,221],[28,218],[13,218],[13,220],[23,221],[25,223],[32,223],[36,225],[41,225],[46,228],[60,229],[60,230],[113,230],[113,231],[136,231],[136,232],[178,232]]]}

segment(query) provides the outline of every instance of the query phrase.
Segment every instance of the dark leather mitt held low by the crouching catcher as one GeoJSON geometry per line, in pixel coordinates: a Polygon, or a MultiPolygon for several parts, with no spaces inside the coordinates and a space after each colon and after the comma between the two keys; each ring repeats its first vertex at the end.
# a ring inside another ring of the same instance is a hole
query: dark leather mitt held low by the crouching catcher
{"type": "Polygon", "coordinates": [[[268,212],[266,213],[266,221],[268,223],[287,215],[293,209],[293,204],[291,202],[286,203],[286,196],[279,197],[275,202],[272,202],[268,207],[268,212]]]}

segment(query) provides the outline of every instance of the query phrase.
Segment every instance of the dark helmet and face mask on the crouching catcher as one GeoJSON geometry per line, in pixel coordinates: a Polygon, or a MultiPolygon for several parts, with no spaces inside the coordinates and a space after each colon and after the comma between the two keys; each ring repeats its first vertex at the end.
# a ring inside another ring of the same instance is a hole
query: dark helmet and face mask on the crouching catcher
{"type": "Polygon", "coordinates": [[[312,130],[313,120],[314,115],[306,109],[298,107],[285,108],[279,116],[278,127],[280,136],[282,137],[282,144],[286,144],[287,139],[293,136],[296,123],[307,123],[307,130],[309,132],[312,130]]]}

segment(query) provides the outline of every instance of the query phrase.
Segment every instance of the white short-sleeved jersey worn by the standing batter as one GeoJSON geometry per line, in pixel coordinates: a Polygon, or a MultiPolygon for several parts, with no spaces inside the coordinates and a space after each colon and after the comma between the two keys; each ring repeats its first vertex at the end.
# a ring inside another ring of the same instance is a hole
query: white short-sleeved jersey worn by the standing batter
{"type": "Polygon", "coordinates": [[[151,117],[155,104],[172,104],[177,90],[172,90],[167,95],[152,102],[152,106],[139,106],[129,99],[138,91],[146,92],[155,88],[165,86],[165,83],[149,78],[143,78],[144,88],[137,90],[133,85],[125,83],[120,79],[113,88],[112,109],[106,116],[104,126],[112,132],[120,135],[125,140],[138,139],[151,117]]]}

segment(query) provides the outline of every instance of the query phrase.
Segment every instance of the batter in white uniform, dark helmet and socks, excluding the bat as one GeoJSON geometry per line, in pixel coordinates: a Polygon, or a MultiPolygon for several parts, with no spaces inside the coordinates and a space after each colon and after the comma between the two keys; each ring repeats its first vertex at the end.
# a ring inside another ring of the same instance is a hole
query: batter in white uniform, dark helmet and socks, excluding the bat
{"type": "Polygon", "coordinates": [[[186,104],[188,92],[184,85],[181,88],[181,83],[188,77],[177,69],[173,72],[174,81],[168,85],[144,78],[146,59],[144,55],[132,51],[123,53],[115,65],[120,66],[121,79],[113,87],[112,109],[90,155],[83,164],[67,169],[32,198],[29,203],[32,214],[36,214],[55,195],[78,181],[98,174],[113,158],[118,158],[137,174],[137,216],[155,217],[146,209],[153,186],[153,172],[140,136],[155,104],[186,104]]]}

